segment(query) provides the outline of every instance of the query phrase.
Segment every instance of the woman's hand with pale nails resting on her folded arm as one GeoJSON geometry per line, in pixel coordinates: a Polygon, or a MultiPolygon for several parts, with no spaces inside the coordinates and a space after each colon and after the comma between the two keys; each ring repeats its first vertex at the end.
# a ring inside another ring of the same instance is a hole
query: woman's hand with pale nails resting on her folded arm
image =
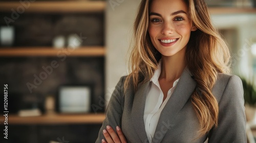
{"type": "Polygon", "coordinates": [[[106,126],[106,130],[103,130],[103,135],[105,137],[105,139],[102,139],[101,142],[102,143],[126,143],[126,139],[125,136],[123,135],[123,132],[121,131],[120,127],[116,127],[116,132],[115,130],[110,127],[110,126],[106,126]],[[116,133],[117,132],[117,133],[116,133]]]}

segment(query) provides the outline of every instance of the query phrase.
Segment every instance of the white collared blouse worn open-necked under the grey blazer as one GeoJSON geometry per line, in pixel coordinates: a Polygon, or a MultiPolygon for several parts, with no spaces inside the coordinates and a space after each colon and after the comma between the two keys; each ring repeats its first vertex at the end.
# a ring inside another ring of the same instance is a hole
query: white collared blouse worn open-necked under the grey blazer
{"type": "Polygon", "coordinates": [[[146,135],[150,143],[152,142],[153,136],[155,134],[160,114],[166,102],[169,100],[170,96],[173,94],[173,91],[179,81],[179,79],[177,79],[174,82],[173,87],[168,90],[167,97],[163,102],[163,92],[158,82],[159,76],[161,74],[161,66],[162,66],[162,62],[160,60],[160,62],[158,63],[158,68],[155,71],[153,77],[151,78],[151,82],[149,85],[150,87],[147,90],[147,96],[146,96],[146,103],[145,103],[145,110],[144,110],[144,124],[145,124],[146,135]]]}

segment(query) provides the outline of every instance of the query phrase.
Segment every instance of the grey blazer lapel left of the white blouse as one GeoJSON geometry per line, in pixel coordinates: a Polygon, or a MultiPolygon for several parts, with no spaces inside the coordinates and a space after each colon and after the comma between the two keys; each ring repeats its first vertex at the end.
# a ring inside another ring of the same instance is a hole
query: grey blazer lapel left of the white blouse
{"type": "Polygon", "coordinates": [[[134,95],[134,102],[132,108],[133,125],[141,139],[141,142],[147,141],[143,116],[146,101],[146,93],[149,83],[150,82],[148,81],[146,83],[139,84],[138,90],[134,95]]]}

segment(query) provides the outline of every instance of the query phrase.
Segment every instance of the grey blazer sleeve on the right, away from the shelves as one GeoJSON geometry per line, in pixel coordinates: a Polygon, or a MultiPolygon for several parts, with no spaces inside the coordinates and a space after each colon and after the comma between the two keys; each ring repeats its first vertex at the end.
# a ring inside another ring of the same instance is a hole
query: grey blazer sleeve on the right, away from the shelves
{"type": "Polygon", "coordinates": [[[244,92],[238,76],[231,76],[219,102],[218,127],[208,134],[208,142],[247,142],[244,92]]]}

